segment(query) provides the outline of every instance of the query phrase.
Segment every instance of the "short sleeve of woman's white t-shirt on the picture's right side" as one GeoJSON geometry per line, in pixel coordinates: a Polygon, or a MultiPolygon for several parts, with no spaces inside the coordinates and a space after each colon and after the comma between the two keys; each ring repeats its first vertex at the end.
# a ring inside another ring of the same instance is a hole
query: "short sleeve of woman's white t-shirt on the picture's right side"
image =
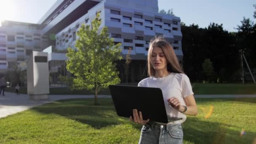
{"type": "Polygon", "coordinates": [[[189,77],[187,77],[187,75],[182,75],[181,86],[182,86],[182,96],[184,98],[194,94],[192,91],[191,83],[189,81],[189,77]]]}

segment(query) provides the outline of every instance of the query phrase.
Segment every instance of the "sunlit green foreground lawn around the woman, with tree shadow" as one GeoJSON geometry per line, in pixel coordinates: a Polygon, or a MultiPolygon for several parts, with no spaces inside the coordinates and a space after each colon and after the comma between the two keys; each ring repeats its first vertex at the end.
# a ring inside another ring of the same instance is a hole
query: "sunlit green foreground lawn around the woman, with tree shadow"
{"type": "MultiPolygon", "coordinates": [[[[184,144],[252,144],[256,98],[196,99],[199,114],[184,123],[184,144]],[[208,119],[205,116],[213,106],[208,119]],[[245,135],[240,131],[245,129],[245,135]]],[[[111,99],[62,100],[0,119],[5,144],[136,144],[141,125],[118,117],[111,99]]]]}

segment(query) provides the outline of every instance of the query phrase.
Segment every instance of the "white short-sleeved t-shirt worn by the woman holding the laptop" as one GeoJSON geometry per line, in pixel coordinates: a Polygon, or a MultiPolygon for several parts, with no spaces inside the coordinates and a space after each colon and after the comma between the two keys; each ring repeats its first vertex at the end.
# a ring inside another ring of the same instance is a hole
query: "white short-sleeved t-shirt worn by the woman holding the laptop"
{"type": "Polygon", "coordinates": [[[181,102],[181,105],[186,106],[184,98],[186,96],[194,94],[192,86],[189,81],[189,77],[182,73],[172,72],[170,75],[165,77],[155,78],[154,76],[141,80],[138,84],[140,87],[160,88],[163,93],[163,99],[168,119],[171,118],[182,118],[171,123],[183,123],[187,116],[174,109],[168,104],[167,99],[176,97],[181,102]]]}

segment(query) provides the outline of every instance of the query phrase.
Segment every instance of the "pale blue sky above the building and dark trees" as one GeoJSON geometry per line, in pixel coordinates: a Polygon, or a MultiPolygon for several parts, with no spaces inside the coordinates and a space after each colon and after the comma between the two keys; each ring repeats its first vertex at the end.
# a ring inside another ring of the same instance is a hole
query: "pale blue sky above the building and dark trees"
{"type": "MultiPolygon", "coordinates": [[[[56,0],[0,0],[0,21],[37,23],[56,0]]],[[[208,27],[210,23],[223,24],[229,32],[236,31],[243,17],[254,23],[255,0],[158,0],[159,10],[173,9],[186,25],[208,27]]]]}

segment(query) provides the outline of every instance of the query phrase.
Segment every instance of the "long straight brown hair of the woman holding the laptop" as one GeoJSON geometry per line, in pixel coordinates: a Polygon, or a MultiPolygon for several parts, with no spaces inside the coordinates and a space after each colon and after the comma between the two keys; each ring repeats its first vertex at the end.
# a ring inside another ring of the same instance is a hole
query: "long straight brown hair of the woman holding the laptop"
{"type": "Polygon", "coordinates": [[[147,56],[148,75],[150,77],[155,75],[155,69],[151,64],[151,56],[153,49],[156,47],[161,48],[165,54],[165,58],[167,60],[167,70],[169,72],[184,73],[171,44],[168,43],[168,41],[166,41],[163,37],[155,37],[149,43],[149,51],[147,56]]]}

